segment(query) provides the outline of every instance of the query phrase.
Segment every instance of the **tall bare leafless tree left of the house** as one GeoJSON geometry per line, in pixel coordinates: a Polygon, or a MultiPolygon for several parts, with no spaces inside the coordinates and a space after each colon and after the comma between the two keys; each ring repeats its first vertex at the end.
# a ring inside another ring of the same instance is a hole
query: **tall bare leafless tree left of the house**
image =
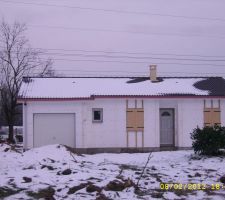
{"type": "Polygon", "coordinates": [[[17,97],[23,76],[51,73],[51,61],[40,59],[25,37],[26,25],[0,24],[0,103],[9,126],[9,141],[14,141],[13,125],[17,115],[17,97]]]}

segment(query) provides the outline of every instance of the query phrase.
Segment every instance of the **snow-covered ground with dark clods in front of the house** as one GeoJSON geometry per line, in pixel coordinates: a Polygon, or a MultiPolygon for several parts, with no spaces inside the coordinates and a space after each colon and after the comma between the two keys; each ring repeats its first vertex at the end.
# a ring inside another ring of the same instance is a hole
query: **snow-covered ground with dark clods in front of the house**
{"type": "Polygon", "coordinates": [[[0,144],[0,199],[224,198],[225,187],[213,190],[211,186],[219,183],[222,187],[224,157],[200,157],[193,151],[154,152],[139,181],[139,190],[135,189],[148,156],[77,155],[62,145],[19,153],[0,144]],[[183,189],[163,190],[161,182],[182,184],[183,189]],[[185,185],[188,183],[201,184],[197,187],[202,190],[192,190],[194,186],[185,185]]]}

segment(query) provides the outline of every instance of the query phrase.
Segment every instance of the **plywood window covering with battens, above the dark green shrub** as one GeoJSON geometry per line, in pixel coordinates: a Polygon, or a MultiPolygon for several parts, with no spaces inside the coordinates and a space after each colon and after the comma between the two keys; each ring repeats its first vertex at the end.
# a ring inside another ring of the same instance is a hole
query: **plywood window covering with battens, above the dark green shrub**
{"type": "Polygon", "coordinates": [[[204,125],[214,126],[221,124],[221,110],[220,100],[211,100],[210,107],[207,106],[206,100],[204,100],[204,125]]]}

